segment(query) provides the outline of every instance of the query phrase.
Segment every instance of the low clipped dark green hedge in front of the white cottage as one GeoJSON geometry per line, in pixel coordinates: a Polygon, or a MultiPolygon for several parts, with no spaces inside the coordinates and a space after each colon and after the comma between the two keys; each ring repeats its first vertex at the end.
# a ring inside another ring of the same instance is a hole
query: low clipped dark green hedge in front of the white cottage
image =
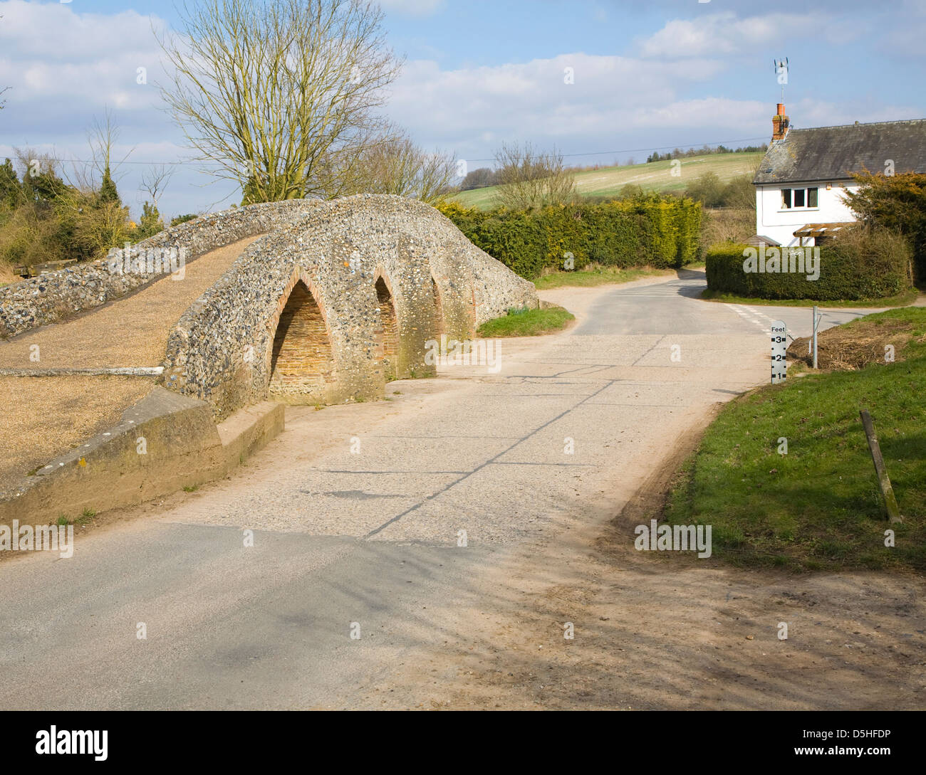
{"type": "MultiPolygon", "coordinates": [[[[754,299],[813,299],[819,301],[875,300],[896,296],[913,285],[912,252],[907,241],[889,233],[851,236],[824,245],[820,251],[820,277],[804,272],[746,272],[748,245],[721,245],[707,252],[707,288],[754,299]]],[[[788,249],[780,249],[788,262],[788,249]]],[[[776,253],[766,249],[766,256],[776,253]]]]}

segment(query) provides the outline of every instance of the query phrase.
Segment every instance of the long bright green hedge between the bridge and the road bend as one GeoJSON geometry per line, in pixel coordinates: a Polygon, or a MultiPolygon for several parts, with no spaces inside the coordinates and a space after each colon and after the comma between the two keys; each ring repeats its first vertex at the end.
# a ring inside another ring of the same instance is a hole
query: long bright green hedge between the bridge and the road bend
{"type": "Polygon", "coordinates": [[[482,211],[442,203],[469,240],[521,277],[544,268],[605,266],[678,268],[701,257],[701,205],[675,196],[648,196],[607,203],[579,203],[540,210],[482,211]]]}

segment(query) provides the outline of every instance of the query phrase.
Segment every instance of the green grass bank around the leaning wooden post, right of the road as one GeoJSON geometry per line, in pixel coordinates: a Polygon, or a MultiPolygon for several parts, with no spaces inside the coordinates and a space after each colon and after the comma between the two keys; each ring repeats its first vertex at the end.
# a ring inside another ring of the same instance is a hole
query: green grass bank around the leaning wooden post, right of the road
{"type": "Polygon", "coordinates": [[[714,556],[736,565],[926,571],[926,354],[911,340],[903,357],[733,400],[677,475],[667,522],[711,524],[714,556]],[[861,408],[874,420],[903,524],[887,523],[861,408]],[[888,528],[895,547],[884,546],[888,528]]]}

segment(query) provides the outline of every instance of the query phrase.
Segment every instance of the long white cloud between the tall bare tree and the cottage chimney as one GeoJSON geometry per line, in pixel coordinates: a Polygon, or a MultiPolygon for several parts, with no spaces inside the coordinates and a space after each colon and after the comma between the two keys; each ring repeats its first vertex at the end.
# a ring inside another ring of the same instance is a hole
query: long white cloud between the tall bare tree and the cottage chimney
{"type": "MultiPolygon", "coordinates": [[[[389,113],[422,140],[457,149],[482,146],[486,129],[494,137],[587,146],[591,137],[625,133],[628,122],[632,128],[647,121],[665,126],[666,111],[680,105],[679,92],[716,77],[722,67],[707,59],[652,62],[585,54],[456,70],[416,60],[394,83],[389,113]],[[572,68],[574,83],[564,82],[566,68],[572,68]]],[[[755,111],[748,105],[746,112],[755,111]]],[[[701,113],[684,116],[679,108],[679,133],[690,133],[701,119],[701,113]]],[[[717,125],[723,117],[705,112],[704,119],[717,125]]]]}

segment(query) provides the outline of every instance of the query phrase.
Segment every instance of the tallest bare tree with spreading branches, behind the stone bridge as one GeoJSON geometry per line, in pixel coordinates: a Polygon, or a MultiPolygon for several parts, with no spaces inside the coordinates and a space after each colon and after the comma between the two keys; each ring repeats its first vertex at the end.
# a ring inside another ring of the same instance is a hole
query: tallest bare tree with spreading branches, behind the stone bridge
{"type": "Polygon", "coordinates": [[[401,62],[368,0],[200,0],[161,94],[196,160],[245,202],[336,196],[401,62]]]}

